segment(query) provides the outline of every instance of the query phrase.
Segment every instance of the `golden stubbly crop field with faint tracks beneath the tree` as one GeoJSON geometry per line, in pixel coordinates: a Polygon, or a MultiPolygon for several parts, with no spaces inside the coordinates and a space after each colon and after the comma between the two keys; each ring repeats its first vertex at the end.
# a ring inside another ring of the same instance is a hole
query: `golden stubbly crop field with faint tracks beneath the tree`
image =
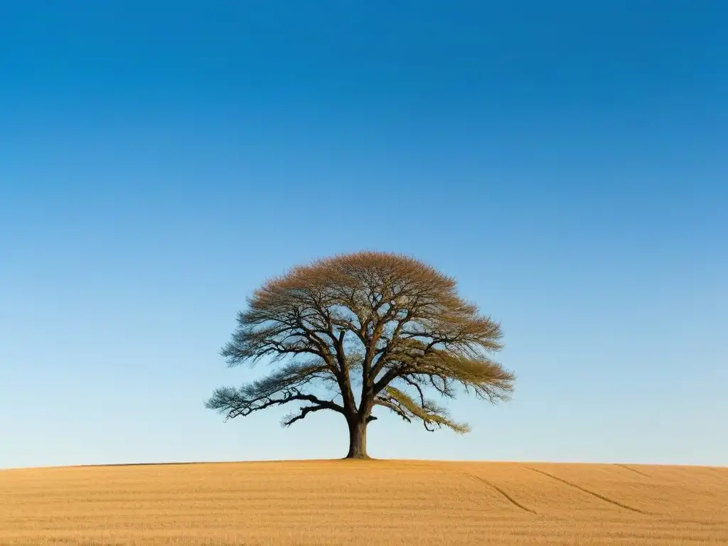
{"type": "Polygon", "coordinates": [[[0,544],[728,544],[728,469],[306,461],[3,470],[0,544]]]}

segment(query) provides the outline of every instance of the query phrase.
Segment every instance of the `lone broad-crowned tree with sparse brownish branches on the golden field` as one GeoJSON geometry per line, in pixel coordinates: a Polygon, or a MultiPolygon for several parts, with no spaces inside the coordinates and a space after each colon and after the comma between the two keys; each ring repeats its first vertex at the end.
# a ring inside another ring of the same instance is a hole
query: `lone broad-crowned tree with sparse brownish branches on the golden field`
{"type": "Polygon", "coordinates": [[[491,403],[513,390],[513,374],[488,358],[502,349],[499,324],[464,301],[454,279],[407,256],[362,252],[294,267],[258,288],[237,323],[221,349],[230,367],[285,363],[240,389],[215,390],[206,407],[227,420],[302,403],[284,427],[336,411],[347,420],[350,459],[368,458],[375,406],[463,434],[467,424],[426,390],[454,398],[460,387],[491,403]]]}

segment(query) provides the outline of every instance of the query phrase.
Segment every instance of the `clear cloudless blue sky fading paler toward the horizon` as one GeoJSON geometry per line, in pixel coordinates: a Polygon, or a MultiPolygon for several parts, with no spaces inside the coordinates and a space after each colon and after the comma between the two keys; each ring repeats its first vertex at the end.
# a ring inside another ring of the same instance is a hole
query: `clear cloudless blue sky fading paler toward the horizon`
{"type": "Polygon", "coordinates": [[[203,408],[266,277],[413,254],[510,403],[372,456],[728,465],[722,1],[15,2],[0,17],[0,467],[328,458],[203,408]]]}

